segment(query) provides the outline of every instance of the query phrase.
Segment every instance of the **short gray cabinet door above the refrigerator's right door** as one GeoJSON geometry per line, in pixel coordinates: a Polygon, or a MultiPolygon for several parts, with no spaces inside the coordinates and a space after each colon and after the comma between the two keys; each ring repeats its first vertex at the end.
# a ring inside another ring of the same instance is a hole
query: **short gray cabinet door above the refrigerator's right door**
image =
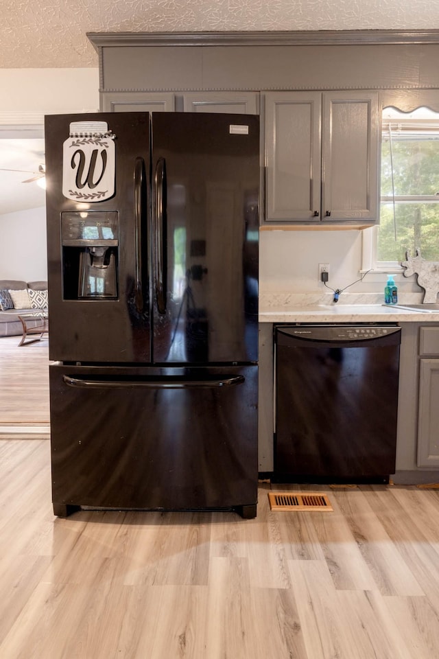
{"type": "Polygon", "coordinates": [[[259,114],[259,93],[193,91],[183,94],[185,112],[259,114]]]}

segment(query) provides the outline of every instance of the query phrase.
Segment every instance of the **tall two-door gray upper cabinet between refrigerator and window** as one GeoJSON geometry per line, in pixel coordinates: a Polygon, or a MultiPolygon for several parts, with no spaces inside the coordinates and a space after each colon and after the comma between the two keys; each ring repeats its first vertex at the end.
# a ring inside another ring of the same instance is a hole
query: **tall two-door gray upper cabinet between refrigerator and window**
{"type": "Polygon", "coordinates": [[[268,222],[377,220],[378,94],[265,93],[268,222]]]}

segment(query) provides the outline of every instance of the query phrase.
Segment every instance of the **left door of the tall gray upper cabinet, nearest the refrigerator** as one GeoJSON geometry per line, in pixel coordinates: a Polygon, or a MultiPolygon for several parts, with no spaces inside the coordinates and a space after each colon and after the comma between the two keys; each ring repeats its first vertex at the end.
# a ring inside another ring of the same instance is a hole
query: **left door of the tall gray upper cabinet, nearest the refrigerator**
{"type": "Polygon", "coordinates": [[[265,94],[267,220],[320,221],[322,94],[265,94]]]}

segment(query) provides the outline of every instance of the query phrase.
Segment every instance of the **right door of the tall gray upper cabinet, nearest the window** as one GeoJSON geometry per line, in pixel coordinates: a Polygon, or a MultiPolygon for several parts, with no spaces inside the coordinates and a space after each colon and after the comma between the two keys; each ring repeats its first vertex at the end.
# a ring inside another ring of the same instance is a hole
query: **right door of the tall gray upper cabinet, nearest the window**
{"type": "Polygon", "coordinates": [[[326,92],[322,119],[322,220],[375,220],[378,94],[326,92]]]}

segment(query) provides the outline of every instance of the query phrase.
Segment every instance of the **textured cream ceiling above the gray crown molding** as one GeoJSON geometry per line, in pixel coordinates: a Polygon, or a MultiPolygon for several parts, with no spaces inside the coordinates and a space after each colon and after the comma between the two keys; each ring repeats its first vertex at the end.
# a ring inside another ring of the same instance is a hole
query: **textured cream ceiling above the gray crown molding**
{"type": "Polygon", "coordinates": [[[1,0],[0,68],[97,67],[86,32],[429,30],[438,0],[1,0]]]}

